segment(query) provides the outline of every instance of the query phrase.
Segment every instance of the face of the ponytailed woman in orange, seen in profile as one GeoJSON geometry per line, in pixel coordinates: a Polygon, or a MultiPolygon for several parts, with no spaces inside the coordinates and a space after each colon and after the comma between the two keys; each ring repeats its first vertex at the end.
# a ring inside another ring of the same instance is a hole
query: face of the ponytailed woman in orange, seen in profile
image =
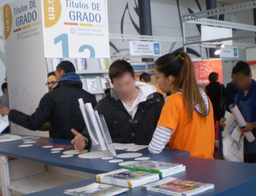
{"type": "MultiPolygon", "coordinates": [[[[163,73],[154,68],[155,83],[159,86],[162,92],[172,92],[172,76],[166,77],[163,73]]],[[[173,92],[172,92],[173,93],[173,92]]]]}

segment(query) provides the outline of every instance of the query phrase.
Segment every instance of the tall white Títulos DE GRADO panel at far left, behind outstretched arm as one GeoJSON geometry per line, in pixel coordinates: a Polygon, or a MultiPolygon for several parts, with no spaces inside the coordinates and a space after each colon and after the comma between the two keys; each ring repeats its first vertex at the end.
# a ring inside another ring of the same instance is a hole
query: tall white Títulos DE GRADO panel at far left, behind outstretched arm
{"type": "MultiPolygon", "coordinates": [[[[15,0],[2,14],[10,108],[31,115],[47,92],[41,1],[15,0]]],[[[12,133],[38,135],[16,124],[12,133]]]]}

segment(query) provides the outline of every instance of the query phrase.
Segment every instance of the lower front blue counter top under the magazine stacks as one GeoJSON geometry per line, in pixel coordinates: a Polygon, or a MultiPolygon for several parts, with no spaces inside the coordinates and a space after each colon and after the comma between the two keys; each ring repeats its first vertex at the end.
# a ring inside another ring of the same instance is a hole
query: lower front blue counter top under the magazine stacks
{"type": "MultiPolygon", "coordinates": [[[[173,177],[212,183],[215,188],[197,196],[255,196],[256,164],[228,162],[222,160],[199,159],[186,156],[168,156],[159,161],[182,163],[186,171],[172,175],[173,177]]],[[[96,182],[95,178],[55,187],[49,190],[28,194],[28,196],[65,196],[65,189],[72,189],[96,182]]],[[[130,189],[120,196],[163,196],[164,194],[141,190],[140,187],[130,189]]]]}

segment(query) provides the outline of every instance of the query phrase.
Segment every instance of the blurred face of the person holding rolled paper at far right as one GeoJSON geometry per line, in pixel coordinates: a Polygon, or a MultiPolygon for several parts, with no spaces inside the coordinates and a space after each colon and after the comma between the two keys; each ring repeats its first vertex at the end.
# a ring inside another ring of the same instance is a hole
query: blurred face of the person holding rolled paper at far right
{"type": "Polygon", "coordinates": [[[252,83],[252,73],[248,76],[243,72],[238,72],[233,75],[233,80],[235,81],[236,86],[244,92],[250,88],[250,84],[252,83]]]}

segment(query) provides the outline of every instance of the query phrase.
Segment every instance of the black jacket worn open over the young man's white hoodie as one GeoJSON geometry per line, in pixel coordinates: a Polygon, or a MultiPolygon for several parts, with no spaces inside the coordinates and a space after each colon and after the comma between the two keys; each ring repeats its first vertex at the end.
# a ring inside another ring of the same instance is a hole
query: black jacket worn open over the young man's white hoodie
{"type": "MultiPolygon", "coordinates": [[[[106,97],[98,102],[95,110],[104,116],[112,141],[148,145],[163,107],[160,95],[157,92],[148,95],[147,100],[138,105],[134,119],[131,118],[122,101],[115,97],[113,89],[106,89],[105,95],[106,97]]],[[[83,133],[88,135],[87,130],[83,133]]]]}

